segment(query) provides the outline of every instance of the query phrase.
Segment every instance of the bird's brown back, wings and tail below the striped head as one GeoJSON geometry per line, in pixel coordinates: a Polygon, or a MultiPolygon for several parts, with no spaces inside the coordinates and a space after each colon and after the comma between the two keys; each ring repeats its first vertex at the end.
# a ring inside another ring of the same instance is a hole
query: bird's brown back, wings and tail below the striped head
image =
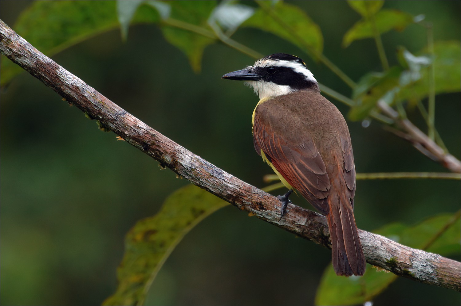
{"type": "Polygon", "coordinates": [[[355,165],[343,115],[317,86],[272,97],[254,112],[254,148],[324,214],[338,275],[363,275],[354,218],[355,165]]]}

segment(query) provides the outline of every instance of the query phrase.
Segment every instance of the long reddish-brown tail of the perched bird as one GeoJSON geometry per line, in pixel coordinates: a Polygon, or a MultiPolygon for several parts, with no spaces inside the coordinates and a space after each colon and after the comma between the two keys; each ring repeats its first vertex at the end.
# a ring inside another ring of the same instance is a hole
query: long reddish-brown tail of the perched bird
{"type": "Polygon", "coordinates": [[[337,195],[331,195],[329,200],[330,211],[326,218],[330,229],[333,268],[337,275],[363,275],[365,256],[357,233],[352,204],[343,203],[337,195]]]}

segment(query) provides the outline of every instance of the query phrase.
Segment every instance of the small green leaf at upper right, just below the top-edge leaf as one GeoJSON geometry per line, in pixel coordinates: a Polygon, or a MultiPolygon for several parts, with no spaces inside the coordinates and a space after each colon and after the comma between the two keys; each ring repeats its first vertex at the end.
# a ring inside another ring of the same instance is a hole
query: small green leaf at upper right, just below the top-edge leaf
{"type": "MultiPolygon", "coordinates": [[[[409,24],[414,23],[414,17],[406,12],[397,10],[381,10],[374,17],[379,34],[391,29],[402,31],[409,24]]],[[[374,37],[372,21],[362,19],[354,24],[343,37],[343,46],[349,46],[354,40],[374,37]]]]}

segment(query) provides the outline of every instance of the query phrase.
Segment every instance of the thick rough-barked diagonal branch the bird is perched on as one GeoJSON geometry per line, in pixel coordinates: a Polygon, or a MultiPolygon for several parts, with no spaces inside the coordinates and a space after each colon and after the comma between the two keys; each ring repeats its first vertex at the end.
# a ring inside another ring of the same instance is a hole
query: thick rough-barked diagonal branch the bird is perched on
{"type": "MultiPolygon", "coordinates": [[[[52,88],[103,127],[152,156],[193,184],[239,209],[269,223],[330,248],[325,217],[290,204],[280,218],[280,201],[215,167],[200,156],[166,138],[94,88],[47,58],[1,21],[1,53],[52,88]]],[[[366,261],[396,275],[460,291],[461,263],[385,237],[359,230],[366,261]]]]}

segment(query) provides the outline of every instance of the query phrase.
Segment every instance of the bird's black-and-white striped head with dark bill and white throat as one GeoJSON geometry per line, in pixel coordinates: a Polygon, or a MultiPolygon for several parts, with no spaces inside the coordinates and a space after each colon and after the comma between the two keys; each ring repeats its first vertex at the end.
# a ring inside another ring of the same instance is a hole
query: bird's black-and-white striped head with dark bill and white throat
{"type": "Polygon", "coordinates": [[[226,73],[228,80],[245,81],[253,87],[260,99],[277,97],[305,88],[319,88],[312,72],[301,58],[286,53],[275,53],[257,60],[253,66],[226,73]]]}

